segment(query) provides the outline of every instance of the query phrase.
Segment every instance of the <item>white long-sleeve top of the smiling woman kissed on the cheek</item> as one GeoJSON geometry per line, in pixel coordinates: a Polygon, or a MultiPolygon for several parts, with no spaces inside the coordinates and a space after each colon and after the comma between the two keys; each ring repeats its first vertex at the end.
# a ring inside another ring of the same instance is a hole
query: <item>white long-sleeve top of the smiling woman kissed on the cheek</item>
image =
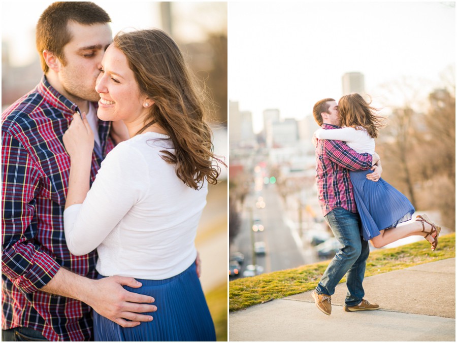
{"type": "Polygon", "coordinates": [[[162,280],[178,275],[197,257],[194,239],[206,205],[186,186],[160,150],[173,152],[169,136],[146,132],[118,144],[102,162],[82,204],[64,211],[70,252],[97,249],[103,276],[162,280]]]}

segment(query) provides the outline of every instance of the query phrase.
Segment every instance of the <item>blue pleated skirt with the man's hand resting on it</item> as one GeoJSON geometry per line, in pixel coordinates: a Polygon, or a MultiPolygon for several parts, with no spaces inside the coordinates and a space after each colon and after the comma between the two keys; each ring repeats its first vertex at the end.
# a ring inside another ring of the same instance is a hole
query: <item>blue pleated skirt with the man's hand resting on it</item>
{"type": "MultiPolygon", "coordinates": [[[[103,278],[103,277],[101,277],[103,278]]],[[[94,311],[95,341],[215,341],[214,323],[197,277],[195,263],[165,280],[137,279],[143,286],[130,292],[154,297],[154,319],[133,328],[123,328],[94,311]]]]}

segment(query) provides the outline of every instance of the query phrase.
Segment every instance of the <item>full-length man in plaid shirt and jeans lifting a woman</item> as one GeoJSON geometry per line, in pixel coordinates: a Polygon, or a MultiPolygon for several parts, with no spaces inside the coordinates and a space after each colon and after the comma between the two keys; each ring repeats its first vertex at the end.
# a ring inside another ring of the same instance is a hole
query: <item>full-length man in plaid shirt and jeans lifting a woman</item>
{"type": "MultiPolygon", "coordinates": [[[[316,102],[313,115],[324,129],[340,127],[341,118],[334,99],[326,98],[316,102]]],[[[348,293],[345,310],[352,312],[379,308],[363,299],[365,293],[362,282],[370,248],[362,237],[361,220],[349,179],[349,170],[370,169],[378,160],[376,153],[359,154],[341,141],[316,142],[316,180],[320,207],[325,221],[342,246],[312,292],[317,308],[326,315],[332,313],[332,295],[346,273],[348,293]]]]}

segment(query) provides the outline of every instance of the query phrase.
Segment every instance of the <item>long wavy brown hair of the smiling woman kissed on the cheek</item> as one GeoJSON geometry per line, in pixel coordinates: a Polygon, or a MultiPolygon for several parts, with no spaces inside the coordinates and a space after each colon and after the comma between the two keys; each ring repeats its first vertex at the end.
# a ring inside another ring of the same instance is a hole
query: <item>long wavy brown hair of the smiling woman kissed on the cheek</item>
{"type": "Polygon", "coordinates": [[[216,184],[220,167],[213,162],[222,161],[213,154],[205,96],[177,44],[159,29],[120,32],[113,43],[127,57],[140,92],[154,101],[138,133],[157,123],[170,135],[175,149],[174,154],[162,150],[161,157],[176,164],[178,178],[194,189],[205,179],[216,184]]]}

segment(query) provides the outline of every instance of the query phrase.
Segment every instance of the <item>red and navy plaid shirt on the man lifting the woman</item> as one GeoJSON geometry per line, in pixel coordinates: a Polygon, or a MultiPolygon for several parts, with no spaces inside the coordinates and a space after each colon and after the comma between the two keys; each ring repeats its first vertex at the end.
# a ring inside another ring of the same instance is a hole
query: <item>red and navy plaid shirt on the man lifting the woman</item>
{"type": "MultiPolygon", "coordinates": [[[[322,128],[339,127],[322,124],[322,128]]],[[[371,154],[358,154],[342,141],[317,140],[317,195],[324,216],[336,207],[357,213],[349,170],[370,169],[372,161],[371,154]]]]}

